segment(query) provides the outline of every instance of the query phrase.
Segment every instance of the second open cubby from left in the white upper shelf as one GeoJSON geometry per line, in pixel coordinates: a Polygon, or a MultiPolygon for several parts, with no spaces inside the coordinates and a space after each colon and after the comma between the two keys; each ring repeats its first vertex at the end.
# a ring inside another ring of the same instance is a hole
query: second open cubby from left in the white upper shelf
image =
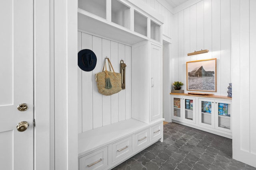
{"type": "Polygon", "coordinates": [[[126,28],[130,28],[130,7],[119,0],[111,1],[111,21],[126,28]]]}

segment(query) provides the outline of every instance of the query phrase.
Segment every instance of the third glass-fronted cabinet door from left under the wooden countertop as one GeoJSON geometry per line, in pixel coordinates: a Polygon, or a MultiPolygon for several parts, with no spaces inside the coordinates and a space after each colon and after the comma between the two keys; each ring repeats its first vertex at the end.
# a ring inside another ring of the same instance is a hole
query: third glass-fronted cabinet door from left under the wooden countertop
{"type": "Polygon", "coordinates": [[[211,99],[198,99],[199,125],[214,128],[215,102],[211,99]]]}

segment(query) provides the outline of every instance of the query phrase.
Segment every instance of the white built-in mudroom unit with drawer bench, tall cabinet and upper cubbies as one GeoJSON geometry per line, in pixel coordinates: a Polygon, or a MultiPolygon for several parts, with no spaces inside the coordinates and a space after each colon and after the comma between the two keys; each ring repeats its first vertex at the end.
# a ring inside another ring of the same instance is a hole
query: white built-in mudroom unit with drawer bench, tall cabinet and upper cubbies
{"type": "MultiPolygon", "coordinates": [[[[132,73],[132,106],[123,108],[132,111],[132,118],[79,133],[80,170],[111,169],[163,141],[163,17],[142,4],[136,0],[78,0],[78,31],[132,46],[131,65],[127,66],[132,73]]],[[[115,99],[111,102],[125,100],[115,99]]]]}

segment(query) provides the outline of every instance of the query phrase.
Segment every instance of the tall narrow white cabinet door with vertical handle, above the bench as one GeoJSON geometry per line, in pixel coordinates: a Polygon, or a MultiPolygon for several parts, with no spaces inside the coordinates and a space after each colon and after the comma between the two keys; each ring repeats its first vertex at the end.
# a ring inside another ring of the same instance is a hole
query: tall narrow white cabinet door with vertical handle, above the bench
{"type": "Polygon", "coordinates": [[[151,121],[162,117],[162,48],[151,44],[151,121]]]}

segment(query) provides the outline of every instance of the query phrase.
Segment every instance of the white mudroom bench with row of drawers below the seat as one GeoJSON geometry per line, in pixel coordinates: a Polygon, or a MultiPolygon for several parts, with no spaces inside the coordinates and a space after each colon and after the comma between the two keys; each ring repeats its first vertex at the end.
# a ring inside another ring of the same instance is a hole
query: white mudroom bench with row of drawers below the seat
{"type": "Polygon", "coordinates": [[[163,121],[128,119],[78,134],[79,170],[111,169],[157,141],[163,121]]]}

